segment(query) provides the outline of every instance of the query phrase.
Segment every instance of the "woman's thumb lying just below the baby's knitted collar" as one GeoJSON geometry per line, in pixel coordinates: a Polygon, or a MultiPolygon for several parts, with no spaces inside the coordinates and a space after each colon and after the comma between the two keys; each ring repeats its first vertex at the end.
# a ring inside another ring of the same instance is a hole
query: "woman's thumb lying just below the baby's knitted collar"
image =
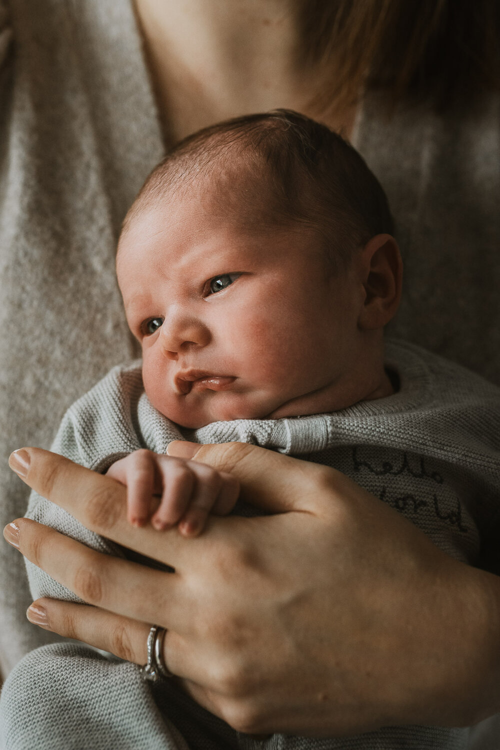
{"type": "Polygon", "coordinates": [[[174,440],[167,448],[169,456],[206,463],[218,471],[225,471],[240,481],[240,497],[275,513],[308,511],[317,495],[317,469],[324,470],[281,453],[248,443],[219,443],[201,446],[174,440]],[[316,493],[314,492],[316,486],[316,493]]]}

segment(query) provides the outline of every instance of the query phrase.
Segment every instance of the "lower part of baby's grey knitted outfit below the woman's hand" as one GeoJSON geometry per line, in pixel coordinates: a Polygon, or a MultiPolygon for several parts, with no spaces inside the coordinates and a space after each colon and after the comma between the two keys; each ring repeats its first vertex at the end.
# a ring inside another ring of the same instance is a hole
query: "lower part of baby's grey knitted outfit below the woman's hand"
{"type": "Polygon", "coordinates": [[[174,685],[147,686],[133,664],[109,662],[88,647],[73,644],[43,646],[24,658],[7,679],[1,700],[11,719],[2,727],[2,750],[466,748],[463,730],[439,727],[387,727],[365,734],[364,744],[359,737],[335,742],[281,734],[260,742],[234,732],[174,685]],[[15,684],[22,685],[22,714],[15,684]]]}

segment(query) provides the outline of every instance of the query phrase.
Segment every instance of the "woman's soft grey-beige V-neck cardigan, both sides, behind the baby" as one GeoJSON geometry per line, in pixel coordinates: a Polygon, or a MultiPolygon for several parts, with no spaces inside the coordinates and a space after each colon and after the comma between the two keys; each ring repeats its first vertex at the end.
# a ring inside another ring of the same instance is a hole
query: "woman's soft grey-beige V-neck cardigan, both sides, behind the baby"
{"type": "MultiPolygon", "coordinates": [[[[376,97],[353,137],[391,201],[406,264],[394,335],[499,380],[500,114],[376,97]]],[[[115,283],[126,208],[164,146],[131,0],[0,0],[0,510],[22,515],[11,450],[49,447],[65,410],[136,352],[115,283]]],[[[30,625],[0,544],[0,665],[54,640],[30,625]]]]}

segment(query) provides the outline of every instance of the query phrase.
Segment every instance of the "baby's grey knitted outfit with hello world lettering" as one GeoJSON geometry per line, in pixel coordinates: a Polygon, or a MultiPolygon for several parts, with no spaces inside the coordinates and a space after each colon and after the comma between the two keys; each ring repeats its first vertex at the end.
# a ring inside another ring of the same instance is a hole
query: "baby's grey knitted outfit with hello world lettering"
{"type": "MultiPolygon", "coordinates": [[[[52,449],[103,472],[139,448],[165,453],[171,440],[254,443],[341,469],[406,515],[446,553],[477,564],[480,552],[499,532],[500,389],[411,344],[388,344],[385,362],[400,383],[398,392],[388,398],[360,402],[332,414],[214,422],[197,430],[179,428],[151,406],[142,386],[140,362],[117,367],[70,407],[52,449]]],[[[89,547],[124,555],[118,545],[88,531],[67,511],[37,493],[31,493],[28,516],[89,547]]],[[[34,598],[48,595],[81,601],[45,571],[30,562],[27,567],[34,598]]],[[[161,689],[153,691],[156,704],[147,703],[150,688],[137,679],[137,667],[124,667],[116,661],[106,667],[102,656],[93,660],[88,649],[60,644],[35,650],[13,670],[1,699],[5,750],[28,748],[38,736],[50,737],[52,750],[64,750],[64,740],[55,739],[64,738],[58,707],[70,701],[76,706],[70,712],[75,718],[72,746],[83,750],[89,736],[97,734],[95,727],[100,727],[101,714],[106,712],[101,705],[103,690],[107,704],[113,706],[106,722],[108,744],[103,747],[118,747],[123,737],[133,736],[137,721],[147,748],[170,747],[168,743],[176,738],[167,723],[158,734],[158,709],[165,722],[175,721],[187,732],[194,750],[206,747],[207,737],[214,735],[217,742],[224,739],[234,748],[261,746],[190,701],[180,712],[172,709],[171,701],[176,704],[172,691],[166,695],[161,689]],[[147,715],[147,709],[142,708],[145,703],[151,711],[150,731],[142,725],[141,715],[147,715]],[[34,721],[28,711],[33,704],[42,706],[34,721]],[[139,718],[135,705],[141,709],[139,718]],[[31,733],[25,727],[25,739],[19,741],[14,730],[19,723],[17,715],[27,713],[31,733]]],[[[277,735],[267,746],[287,750],[399,750],[402,746],[451,750],[464,748],[467,734],[467,730],[442,727],[391,727],[347,739],[277,735]]]]}

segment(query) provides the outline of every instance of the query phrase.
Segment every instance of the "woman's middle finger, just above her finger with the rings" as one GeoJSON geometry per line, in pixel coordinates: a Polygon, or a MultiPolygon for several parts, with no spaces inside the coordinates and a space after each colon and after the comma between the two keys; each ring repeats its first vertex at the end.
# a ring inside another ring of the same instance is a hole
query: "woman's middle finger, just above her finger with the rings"
{"type": "Polygon", "coordinates": [[[97,552],[28,518],[14,523],[19,551],[88,604],[179,631],[191,622],[189,587],[177,574],[97,552]]]}

